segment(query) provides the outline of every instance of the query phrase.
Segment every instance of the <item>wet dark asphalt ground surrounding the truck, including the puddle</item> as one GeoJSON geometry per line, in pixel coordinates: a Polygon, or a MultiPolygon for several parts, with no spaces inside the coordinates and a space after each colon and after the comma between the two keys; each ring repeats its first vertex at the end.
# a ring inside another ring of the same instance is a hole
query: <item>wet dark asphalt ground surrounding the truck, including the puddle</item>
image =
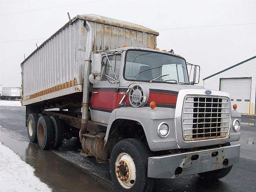
{"type": "MultiPolygon", "coordinates": [[[[64,140],[58,150],[42,150],[30,143],[25,126],[25,107],[0,106],[0,142],[10,147],[22,160],[35,168],[35,175],[54,192],[108,192],[114,191],[108,162],[80,155],[76,138],[64,140]]],[[[256,127],[242,125],[240,161],[234,164],[228,176],[205,182],[198,175],[177,179],[159,179],[154,192],[224,192],[256,191],[256,127]],[[252,144],[254,142],[254,144],[252,144]]]]}

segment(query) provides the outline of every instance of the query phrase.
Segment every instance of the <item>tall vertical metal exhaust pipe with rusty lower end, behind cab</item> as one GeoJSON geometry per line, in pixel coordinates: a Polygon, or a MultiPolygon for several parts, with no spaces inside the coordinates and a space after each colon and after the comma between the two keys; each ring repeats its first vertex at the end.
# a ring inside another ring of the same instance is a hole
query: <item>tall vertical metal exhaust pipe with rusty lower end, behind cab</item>
{"type": "Polygon", "coordinates": [[[88,109],[89,109],[89,75],[90,75],[90,61],[92,52],[92,26],[88,21],[84,21],[86,28],[86,50],[85,50],[85,64],[84,64],[84,86],[83,86],[83,103],[82,103],[82,124],[79,132],[80,141],[82,142],[83,134],[87,132],[88,124],[88,109]]]}

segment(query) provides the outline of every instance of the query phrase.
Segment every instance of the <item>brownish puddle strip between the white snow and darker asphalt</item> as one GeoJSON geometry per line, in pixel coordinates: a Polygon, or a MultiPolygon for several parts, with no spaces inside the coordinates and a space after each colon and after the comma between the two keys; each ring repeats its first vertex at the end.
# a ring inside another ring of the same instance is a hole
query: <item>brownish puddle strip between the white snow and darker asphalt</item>
{"type": "Polygon", "coordinates": [[[38,144],[21,141],[4,130],[0,142],[21,156],[22,160],[35,168],[34,174],[54,192],[108,192],[80,168],[59,158],[50,151],[42,150],[38,144]]]}

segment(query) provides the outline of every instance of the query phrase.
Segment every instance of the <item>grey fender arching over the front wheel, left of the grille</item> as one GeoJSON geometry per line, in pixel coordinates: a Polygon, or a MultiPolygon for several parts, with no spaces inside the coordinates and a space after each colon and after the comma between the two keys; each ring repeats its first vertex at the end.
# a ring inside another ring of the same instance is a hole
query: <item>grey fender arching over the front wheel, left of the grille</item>
{"type": "Polygon", "coordinates": [[[122,107],[114,109],[109,118],[104,139],[105,145],[108,141],[112,123],[117,119],[126,119],[134,120],[142,125],[150,150],[158,151],[177,148],[174,130],[174,114],[175,109],[162,107],[155,109],[151,109],[150,107],[122,107]],[[160,138],[157,134],[157,127],[161,122],[166,122],[170,125],[170,134],[166,138],[160,138]]]}

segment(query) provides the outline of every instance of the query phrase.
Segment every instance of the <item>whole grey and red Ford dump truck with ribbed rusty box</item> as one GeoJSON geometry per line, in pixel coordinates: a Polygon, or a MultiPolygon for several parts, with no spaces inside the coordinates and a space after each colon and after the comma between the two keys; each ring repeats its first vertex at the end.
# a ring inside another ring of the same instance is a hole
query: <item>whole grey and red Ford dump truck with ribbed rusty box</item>
{"type": "Polygon", "coordinates": [[[78,138],[81,154],[109,162],[118,191],[226,176],[240,156],[230,143],[241,115],[228,93],[196,85],[199,66],[159,50],[158,35],[103,16],[70,19],[21,63],[30,141],[47,150],[78,138]]]}

